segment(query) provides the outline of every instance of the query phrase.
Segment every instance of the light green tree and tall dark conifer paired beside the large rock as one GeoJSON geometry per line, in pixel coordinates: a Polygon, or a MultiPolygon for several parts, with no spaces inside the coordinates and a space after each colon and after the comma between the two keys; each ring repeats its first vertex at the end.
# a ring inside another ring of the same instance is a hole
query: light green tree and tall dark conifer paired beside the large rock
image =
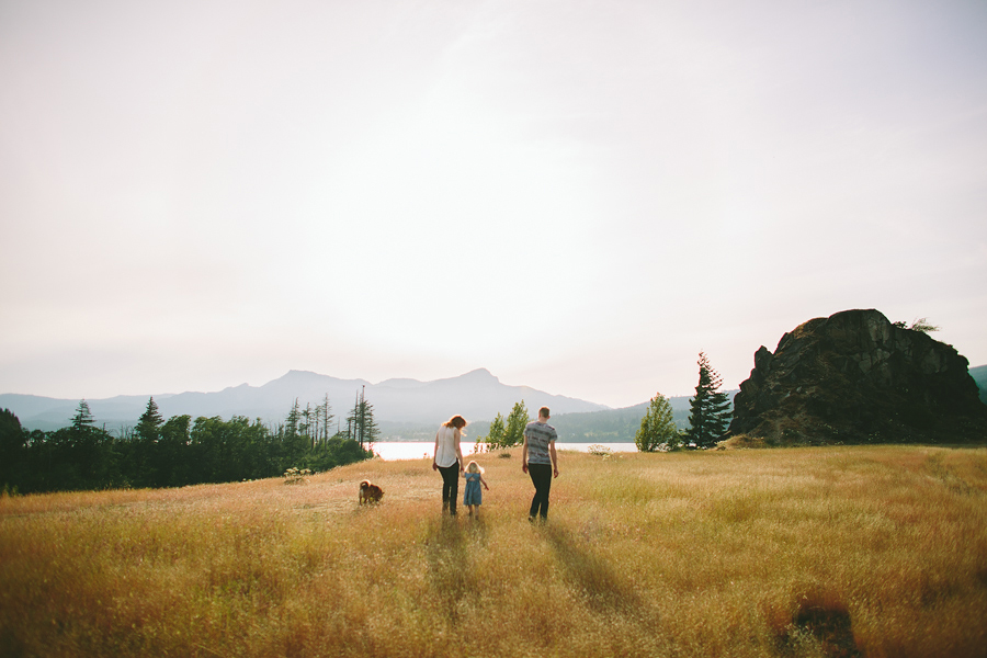
{"type": "Polygon", "coordinates": [[[730,420],[730,400],[719,390],[723,378],[710,365],[704,352],[699,355],[699,384],[695,396],[689,400],[689,429],[680,431],[672,418],[668,398],[657,394],[651,398],[647,412],[640,419],[640,429],[634,438],[642,452],[672,451],[683,445],[713,447],[724,435],[730,420]]]}

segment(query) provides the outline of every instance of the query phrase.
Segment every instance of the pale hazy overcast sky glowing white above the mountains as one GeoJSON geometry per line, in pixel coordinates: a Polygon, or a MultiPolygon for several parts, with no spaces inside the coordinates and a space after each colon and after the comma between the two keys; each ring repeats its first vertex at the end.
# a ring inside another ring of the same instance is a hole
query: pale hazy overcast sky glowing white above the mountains
{"type": "Polygon", "coordinates": [[[984,0],[0,0],[0,393],[486,367],[623,407],[848,308],[987,364],[985,35],[984,0]]]}

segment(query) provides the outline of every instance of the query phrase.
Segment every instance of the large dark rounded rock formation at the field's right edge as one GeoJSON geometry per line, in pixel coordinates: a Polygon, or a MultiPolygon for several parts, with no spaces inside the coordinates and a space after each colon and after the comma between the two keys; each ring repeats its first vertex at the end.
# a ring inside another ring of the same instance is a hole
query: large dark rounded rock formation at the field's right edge
{"type": "Polygon", "coordinates": [[[844,310],[761,347],[734,398],[729,435],[793,443],[987,441],[987,405],[951,345],[844,310]]]}

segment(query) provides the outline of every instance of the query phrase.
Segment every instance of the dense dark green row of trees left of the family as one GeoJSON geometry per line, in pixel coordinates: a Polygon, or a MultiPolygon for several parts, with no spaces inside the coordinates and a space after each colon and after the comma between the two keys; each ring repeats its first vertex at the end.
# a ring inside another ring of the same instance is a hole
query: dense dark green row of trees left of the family
{"type": "Polygon", "coordinates": [[[133,428],[117,435],[97,427],[89,404],[79,402],[71,424],[27,431],[0,410],[0,488],[23,494],[123,487],[180,487],[274,477],[287,468],[328,470],[374,456],[379,434],[363,393],[332,426],[328,397],[315,408],[295,400],[276,427],[260,419],[188,415],[166,420],[154,398],[133,428]]]}

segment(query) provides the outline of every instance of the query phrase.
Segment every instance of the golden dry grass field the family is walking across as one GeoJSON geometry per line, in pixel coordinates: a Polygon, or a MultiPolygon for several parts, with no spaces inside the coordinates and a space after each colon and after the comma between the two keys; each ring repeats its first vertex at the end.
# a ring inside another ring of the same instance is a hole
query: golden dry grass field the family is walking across
{"type": "Polygon", "coordinates": [[[4,497],[0,655],[987,656],[985,449],[561,451],[545,526],[478,461],[4,497]]]}

